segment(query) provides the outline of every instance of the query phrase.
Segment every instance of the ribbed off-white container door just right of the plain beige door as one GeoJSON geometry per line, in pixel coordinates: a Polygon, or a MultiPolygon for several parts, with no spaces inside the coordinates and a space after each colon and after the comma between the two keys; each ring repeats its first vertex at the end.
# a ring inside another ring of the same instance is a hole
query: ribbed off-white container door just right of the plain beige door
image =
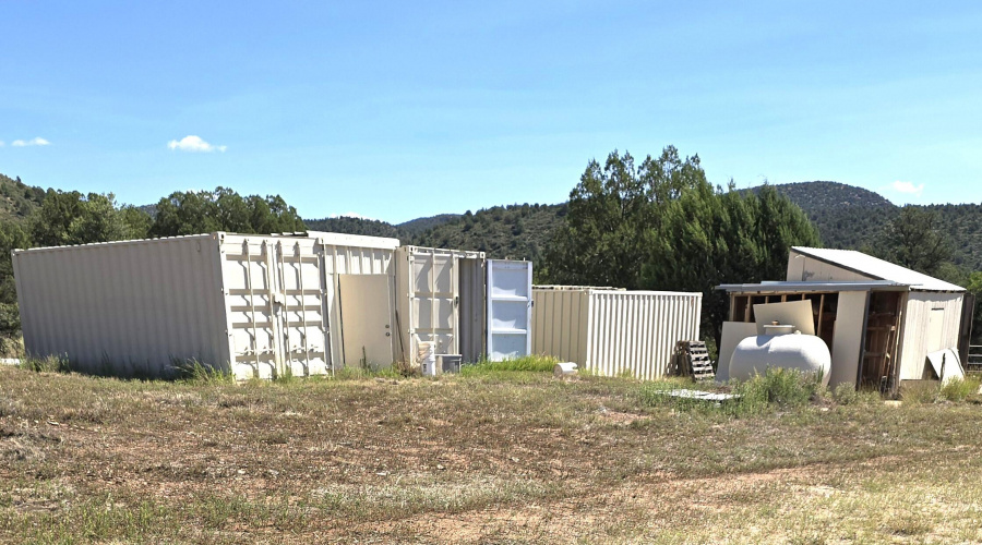
{"type": "Polygon", "coordinates": [[[435,342],[438,354],[457,354],[457,256],[422,250],[409,255],[410,358],[420,342],[435,342]]]}

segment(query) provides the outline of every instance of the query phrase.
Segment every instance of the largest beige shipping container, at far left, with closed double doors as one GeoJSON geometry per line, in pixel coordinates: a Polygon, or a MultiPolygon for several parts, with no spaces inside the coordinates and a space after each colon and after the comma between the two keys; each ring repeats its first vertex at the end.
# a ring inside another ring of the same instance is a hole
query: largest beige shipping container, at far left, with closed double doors
{"type": "Polygon", "coordinates": [[[191,361],[237,378],[325,374],[345,362],[344,277],[391,279],[397,245],[218,232],[19,250],[24,343],[119,376],[168,376],[191,361]]]}

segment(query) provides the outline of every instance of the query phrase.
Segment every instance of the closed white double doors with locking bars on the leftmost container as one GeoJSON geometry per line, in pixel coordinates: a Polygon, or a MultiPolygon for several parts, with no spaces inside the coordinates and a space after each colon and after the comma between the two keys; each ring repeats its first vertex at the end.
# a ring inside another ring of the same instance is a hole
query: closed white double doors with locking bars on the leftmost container
{"type": "Polygon", "coordinates": [[[237,378],[324,374],[330,367],[320,245],[236,239],[223,246],[237,378]]]}

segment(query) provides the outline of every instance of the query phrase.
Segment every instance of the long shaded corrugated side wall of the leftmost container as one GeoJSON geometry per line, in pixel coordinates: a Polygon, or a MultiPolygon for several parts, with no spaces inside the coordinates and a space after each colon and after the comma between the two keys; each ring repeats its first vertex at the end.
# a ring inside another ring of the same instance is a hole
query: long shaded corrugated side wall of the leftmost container
{"type": "Polygon", "coordinates": [[[122,376],[229,361],[217,234],[16,251],[13,268],[31,355],[122,376]]]}

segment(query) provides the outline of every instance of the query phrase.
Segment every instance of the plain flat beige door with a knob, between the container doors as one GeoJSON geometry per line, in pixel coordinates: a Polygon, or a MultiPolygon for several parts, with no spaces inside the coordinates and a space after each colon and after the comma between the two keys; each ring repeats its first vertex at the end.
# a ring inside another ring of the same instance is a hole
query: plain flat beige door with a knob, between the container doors
{"type": "Polygon", "coordinates": [[[392,365],[388,275],[338,275],[345,366],[392,365]]]}

